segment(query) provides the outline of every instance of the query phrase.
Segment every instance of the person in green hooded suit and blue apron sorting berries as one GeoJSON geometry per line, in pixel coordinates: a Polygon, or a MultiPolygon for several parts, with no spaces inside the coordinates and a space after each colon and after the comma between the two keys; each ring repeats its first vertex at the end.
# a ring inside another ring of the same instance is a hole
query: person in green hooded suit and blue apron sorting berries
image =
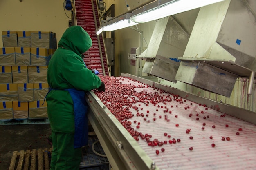
{"type": "Polygon", "coordinates": [[[88,142],[86,91],[105,91],[99,76],[86,68],[82,54],[92,40],[81,26],[69,27],[58,43],[47,72],[46,96],[52,129],[51,170],[78,170],[81,147],[88,142]]]}

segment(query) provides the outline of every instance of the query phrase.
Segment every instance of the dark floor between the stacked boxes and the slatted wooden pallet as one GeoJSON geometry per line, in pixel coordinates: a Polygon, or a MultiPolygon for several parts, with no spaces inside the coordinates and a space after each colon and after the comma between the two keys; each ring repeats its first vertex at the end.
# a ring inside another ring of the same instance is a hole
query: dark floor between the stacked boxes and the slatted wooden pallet
{"type": "Polygon", "coordinates": [[[50,148],[50,124],[0,125],[0,170],[9,170],[13,151],[50,148]]]}

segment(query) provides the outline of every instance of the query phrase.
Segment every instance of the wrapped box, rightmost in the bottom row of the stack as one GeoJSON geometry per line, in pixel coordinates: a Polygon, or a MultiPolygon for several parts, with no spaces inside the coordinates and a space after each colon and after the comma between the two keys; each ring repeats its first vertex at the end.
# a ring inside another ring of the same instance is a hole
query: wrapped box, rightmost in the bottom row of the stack
{"type": "Polygon", "coordinates": [[[34,101],[29,102],[29,118],[47,118],[47,102],[34,101]]]}

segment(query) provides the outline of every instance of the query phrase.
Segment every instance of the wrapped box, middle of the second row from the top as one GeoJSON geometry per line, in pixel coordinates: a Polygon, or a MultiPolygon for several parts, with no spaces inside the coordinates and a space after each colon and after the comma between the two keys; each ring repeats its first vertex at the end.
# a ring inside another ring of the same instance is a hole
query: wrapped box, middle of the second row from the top
{"type": "Polygon", "coordinates": [[[30,57],[29,47],[15,47],[15,63],[17,66],[30,66],[30,57]]]}

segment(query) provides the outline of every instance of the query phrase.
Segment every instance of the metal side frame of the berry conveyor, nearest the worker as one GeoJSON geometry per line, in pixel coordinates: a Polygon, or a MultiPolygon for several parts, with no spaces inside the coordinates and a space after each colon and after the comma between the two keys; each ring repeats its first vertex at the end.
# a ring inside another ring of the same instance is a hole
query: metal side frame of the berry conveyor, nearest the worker
{"type": "Polygon", "coordinates": [[[85,99],[88,119],[114,170],[159,170],[97,95],[89,91],[85,99]]]}

